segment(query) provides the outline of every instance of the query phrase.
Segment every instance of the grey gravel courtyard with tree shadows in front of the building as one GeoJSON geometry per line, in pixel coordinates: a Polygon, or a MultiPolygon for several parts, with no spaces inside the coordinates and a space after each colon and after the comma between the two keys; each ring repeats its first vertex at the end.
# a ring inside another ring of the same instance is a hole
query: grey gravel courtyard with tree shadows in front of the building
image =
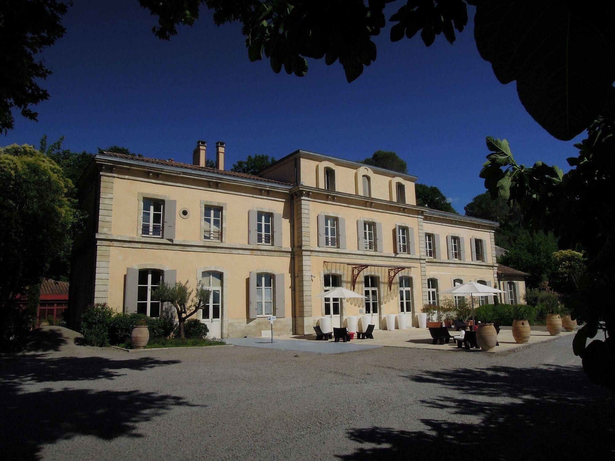
{"type": "Polygon", "coordinates": [[[41,332],[0,355],[3,459],[613,459],[572,337],[505,355],[381,347],[124,353],[41,332]]]}

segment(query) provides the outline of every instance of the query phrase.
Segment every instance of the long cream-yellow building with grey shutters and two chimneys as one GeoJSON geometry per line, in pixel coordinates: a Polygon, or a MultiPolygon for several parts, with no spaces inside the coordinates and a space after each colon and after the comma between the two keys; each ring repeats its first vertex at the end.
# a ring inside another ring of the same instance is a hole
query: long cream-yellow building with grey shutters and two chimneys
{"type": "MultiPolygon", "coordinates": [[[[313,333],[322,316],[405,313],[475,280],[498,283],[492,221],[418,207],[416,176],[295,151],[258,176],[192,164],[97,154],[79,181],[89,213],[76,242],[71,312],[107,302],[160,315],[150,293],[162,280],[202,280],[212,290],[198,318],[212,336],[313,333]],[[366,299],[315,297],[333,286],[366,299]]],[[[487,299],[481,299],[486,302],[487,299]]]]}

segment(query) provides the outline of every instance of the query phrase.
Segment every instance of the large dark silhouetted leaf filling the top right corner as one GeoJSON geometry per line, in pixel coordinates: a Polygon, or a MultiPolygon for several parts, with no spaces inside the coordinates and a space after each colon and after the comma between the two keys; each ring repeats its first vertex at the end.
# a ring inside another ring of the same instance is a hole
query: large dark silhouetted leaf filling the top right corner
{"type": "Polygon", "coordinates": [[[613,2],[478,2],[480,55],[551,135],[570,140],[605,108],[615,80],[613,2]]]}

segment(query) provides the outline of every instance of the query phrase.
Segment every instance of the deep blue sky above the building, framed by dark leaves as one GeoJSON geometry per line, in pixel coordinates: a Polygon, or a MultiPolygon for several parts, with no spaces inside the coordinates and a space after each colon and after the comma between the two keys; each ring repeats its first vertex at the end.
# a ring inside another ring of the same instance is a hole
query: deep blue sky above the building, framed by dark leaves
{"type": "Polygon", "coordinates": [[[209,152],[224,141],[228,167],[248,154],[306,149],[362,160],[383,149],[463,213],[485,190],[485,136],[507,138],[522,163],[564,170],[584,138],[555,140],[531,119],[515,85],[499,84],[478,55],[471,19],[454,45],[439,36],[429,48],[419,37],[391,43],[387,25],[375,63],[351,84],[339,63],[310,60],[301,78],[251,63],[240,26],[218,28],[206,9],[170,42],[153,36],[156,18],[137,0],[77,1],[64,23],[65,37],[44,54],[54,74],[42,85],[51,96],[39,122],[16,114],[0,145],[64,135],[75,151],[117,144],[190,162],[197,140],[209,152]]]}

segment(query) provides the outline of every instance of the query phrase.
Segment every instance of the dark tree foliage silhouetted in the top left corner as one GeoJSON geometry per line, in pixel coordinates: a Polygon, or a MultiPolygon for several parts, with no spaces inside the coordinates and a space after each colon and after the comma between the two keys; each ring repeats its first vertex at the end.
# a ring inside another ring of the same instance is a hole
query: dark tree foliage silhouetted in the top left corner
{"type": "Polygon", "coordinates": [[[23,117],[36,120],[30,107],[49,98],[38,81],[51,71],[39,58],[55,44],[66,29],[62,17],[71,1],[11,0],[0,2],[0,133],[12,130],[17,109],[23,117]]]}

